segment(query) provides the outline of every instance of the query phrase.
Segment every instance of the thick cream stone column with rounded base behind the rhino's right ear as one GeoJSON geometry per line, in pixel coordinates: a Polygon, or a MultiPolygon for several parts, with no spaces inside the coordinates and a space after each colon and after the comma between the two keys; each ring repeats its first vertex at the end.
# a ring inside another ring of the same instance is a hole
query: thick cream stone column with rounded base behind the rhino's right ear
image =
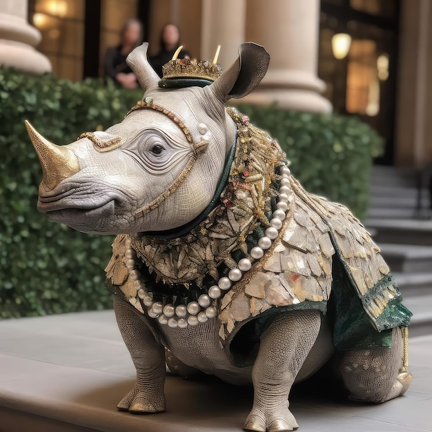
{"type": "Polygon", "coordinates": [[[242,101],[277,102],[286,109],[331,112],[330,101],[320,95],[324,81],[317,77],[320,1],[247,3],[246,40],[264,46],[271,60],[262,84],[242,101]]]}

